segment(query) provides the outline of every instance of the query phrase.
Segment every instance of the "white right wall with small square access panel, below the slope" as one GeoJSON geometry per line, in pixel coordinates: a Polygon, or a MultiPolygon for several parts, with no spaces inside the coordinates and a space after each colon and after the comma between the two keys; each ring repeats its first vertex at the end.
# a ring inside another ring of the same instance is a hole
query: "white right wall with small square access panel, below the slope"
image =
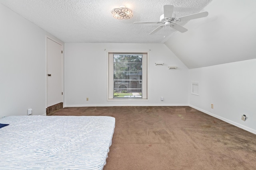
{"type": "Polygon", "coordinates": [[[199,82],[200,96],[190,94],[189,104],[256,134],[255,73],[256,59],[190,69],[189,82],[199,82]]]}

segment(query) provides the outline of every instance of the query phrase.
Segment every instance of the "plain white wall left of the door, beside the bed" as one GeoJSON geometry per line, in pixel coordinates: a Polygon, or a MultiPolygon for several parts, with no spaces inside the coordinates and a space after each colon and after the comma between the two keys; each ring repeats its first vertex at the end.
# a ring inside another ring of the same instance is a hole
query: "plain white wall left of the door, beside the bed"
{"type": "Polygon", "coordinates": [[[0,4],[0,118],[46,113],[46,31],[0,4]]]}

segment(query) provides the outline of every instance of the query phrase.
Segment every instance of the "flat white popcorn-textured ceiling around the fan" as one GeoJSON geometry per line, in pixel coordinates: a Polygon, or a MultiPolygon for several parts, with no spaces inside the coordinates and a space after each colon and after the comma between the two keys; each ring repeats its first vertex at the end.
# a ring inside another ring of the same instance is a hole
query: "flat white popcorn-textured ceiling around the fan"
{"type": "Polygon", "coordinates": [[[174,14],[180,17],[202,11],[211,1],[0,0],[0,3],[66,43],[164,43],[176,30],[164,27],[148,35],[159,24],[133,22],[159,21],[166,4],[174,5],[174,14]],[[133,11],[132,18],[118,20],[113,17],[111,11],[121,5],[133,11]]]}

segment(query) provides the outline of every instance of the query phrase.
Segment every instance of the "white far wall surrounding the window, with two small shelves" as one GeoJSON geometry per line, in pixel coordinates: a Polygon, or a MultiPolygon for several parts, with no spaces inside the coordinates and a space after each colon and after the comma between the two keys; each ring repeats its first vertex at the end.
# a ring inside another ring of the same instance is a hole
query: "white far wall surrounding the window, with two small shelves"
{"type": "Polygon", "coordinates": [[[65,107],[188,105],[188,68],[164,44],[65,43],[64,53],[65,107]],[[107,101],[107,51],[149,52],[148,101],[107,101]]]}

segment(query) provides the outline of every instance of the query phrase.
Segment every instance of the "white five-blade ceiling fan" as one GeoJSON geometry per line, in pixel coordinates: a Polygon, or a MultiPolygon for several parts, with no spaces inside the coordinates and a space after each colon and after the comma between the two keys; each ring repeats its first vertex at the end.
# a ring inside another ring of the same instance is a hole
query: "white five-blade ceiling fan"
{"type": "Polygon", "coordinates": [[[162,14],[160,16],[160,21],[158,21],[158,22],[134,22],[134,23],[162,23],[162,25],[160,25],[159,27],[154,29],[149,34],[154,34],[157,31],[159,31],[160,29],[162,29],[162,27],[165,27],[165,26],[172,27],[172,28],[176,29],[177,31],[184,33],[186,31],[188,31],[188,29],[178,25],[177,24],[178,22],[186,21],[186,20],[193,20],[193,19],[203,18],[203,17],[208,16],[208,12],[200,12],[197,14],[191,14],[188,16],[175,18],[175,15],[173,14],[173,8],[174,8],[173,5],[164,5],[164,14],[162,14]]]}

